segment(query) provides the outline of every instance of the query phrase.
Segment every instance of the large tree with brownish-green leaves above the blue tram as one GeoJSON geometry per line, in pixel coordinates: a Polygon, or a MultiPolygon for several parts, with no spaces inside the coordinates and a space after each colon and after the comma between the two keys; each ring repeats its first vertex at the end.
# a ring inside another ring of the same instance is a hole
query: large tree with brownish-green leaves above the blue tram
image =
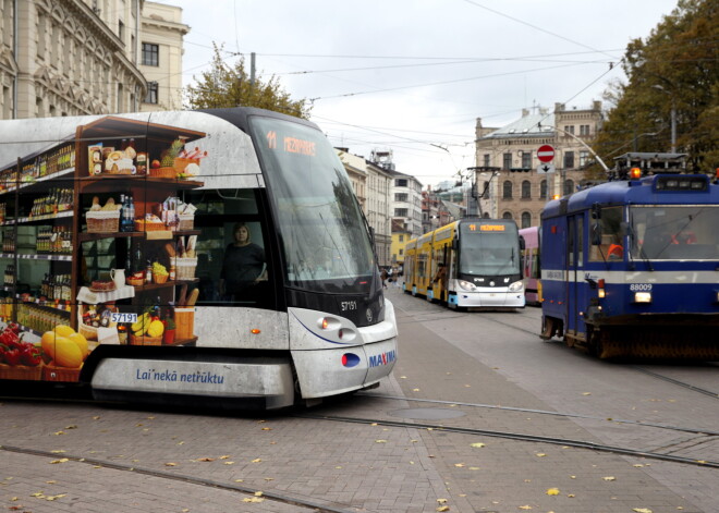
{"type": "Polygon", "coordinates": [[[632,40],[622,66],[626,83],[613,83],[613,107],[597,137],[606,160],[625,151],[669,151],[671,115],[677,150],[693,171],[719,164],[719,7],[712,0],[680,0],[645,41],[632,40]]]}

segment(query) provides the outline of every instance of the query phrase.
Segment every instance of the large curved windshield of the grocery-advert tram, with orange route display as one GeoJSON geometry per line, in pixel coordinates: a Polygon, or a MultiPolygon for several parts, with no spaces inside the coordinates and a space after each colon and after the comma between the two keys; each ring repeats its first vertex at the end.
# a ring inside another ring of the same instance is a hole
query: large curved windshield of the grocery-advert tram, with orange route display
{"type": "Polygon", "coordinates": [[[369,286],[376,267],[352,184],[321,132],[254,117],[291,286],[318,292],[369,286]]]}

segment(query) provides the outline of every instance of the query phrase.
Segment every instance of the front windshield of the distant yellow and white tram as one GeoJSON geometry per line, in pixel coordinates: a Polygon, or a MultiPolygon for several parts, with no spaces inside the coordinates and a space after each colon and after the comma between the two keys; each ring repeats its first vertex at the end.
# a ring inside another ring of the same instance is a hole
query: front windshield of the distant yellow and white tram
{"type": "Polygon", "coordinates": [[[460,273],[520,273],[520,242],[512,224],[460,224],[460,273]]]}

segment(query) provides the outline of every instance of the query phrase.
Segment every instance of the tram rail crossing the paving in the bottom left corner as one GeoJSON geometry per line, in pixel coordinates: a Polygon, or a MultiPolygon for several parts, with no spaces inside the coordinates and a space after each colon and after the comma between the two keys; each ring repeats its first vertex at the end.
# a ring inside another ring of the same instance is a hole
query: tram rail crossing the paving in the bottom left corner
{"type": "MultiPolygon", "coordinates": [[[[37,456],[37,457],[48,457],[52,460],[56,460],[58,457],[57,453],[50,451],[41,451],[37,449],[28,449],[21,447],[4,445],[4,444],[0,445],[0,451],[13,452],[17,454],[24,454],[24,455],[37,456]]],[[[256,492],[257,492],[256,488],[248,488],[245,486],[228,484],[228,483],[219,483],[211,479],[205,479],[185,474],[162,472],[154,468],[138,467],[135,465],[125,465],[122,463],[108,462],[106,460],[84,457],[80,455],[63,454],[62,457],[75,463],[93,465],[94,467],[110,468],[120,472],[133,473],[142,476],[156,477],[160,479],[185,483],[188,485],[202,486],[205,488],[232,491],[237,494],[245,496],[247,498],[256,497],[256,492]]],[[[297,510],[297,511],[307,511],[307,512],[316,512],[316,513],[350,513],[351,511],[354,511],[354,509],[352,509],[349,505],[345,508],[332,506],[332,505],[315,502],[308,499],[290,497],[269,490],[268,491],[261,490],[261,497],[263,499],[268,501],[302,508],[302,510],[297,510]]]]}

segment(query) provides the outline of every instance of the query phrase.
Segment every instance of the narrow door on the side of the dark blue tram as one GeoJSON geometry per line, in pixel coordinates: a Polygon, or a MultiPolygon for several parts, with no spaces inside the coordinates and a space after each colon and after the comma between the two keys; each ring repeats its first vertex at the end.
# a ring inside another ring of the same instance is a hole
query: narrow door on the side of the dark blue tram
{"type": "Polygon", "coordinates": [[[580,312],[584,309],[582,302],[582,285],[584,284],[584,216],[578,213],[569,217],[566,234],[566,267],[568,294],[566,320],[568,334],[577,337],[584,333],[584,320],[580,312]]]}

